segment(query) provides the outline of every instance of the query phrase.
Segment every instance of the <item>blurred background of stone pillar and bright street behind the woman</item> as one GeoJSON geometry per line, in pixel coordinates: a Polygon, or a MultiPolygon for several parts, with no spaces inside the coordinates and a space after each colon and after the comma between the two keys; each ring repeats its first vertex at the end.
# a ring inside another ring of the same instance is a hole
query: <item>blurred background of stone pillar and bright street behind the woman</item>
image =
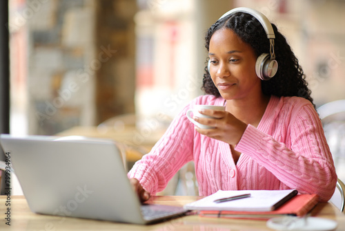
{"type": "MultiPolygon", "coordinates": [[[[317,107],[345,99],[343,0],[8,2],[14,135],[114,138],[140,156],[202,94],[204,34],[239,6],[263,12],[286,35],[317,107]]],[[[345,127],[331,131],[345,179],[345,127]]]]}

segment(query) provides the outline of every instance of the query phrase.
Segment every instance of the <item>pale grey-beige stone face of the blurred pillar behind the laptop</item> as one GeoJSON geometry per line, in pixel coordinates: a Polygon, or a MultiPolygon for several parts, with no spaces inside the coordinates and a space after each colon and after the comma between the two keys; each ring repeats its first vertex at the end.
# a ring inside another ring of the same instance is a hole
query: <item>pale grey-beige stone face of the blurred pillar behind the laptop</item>
{"type": "Polygon", "coordinates": [[[15,55],[23,58],[13,69],[25,70],[12,76],[25,95],[19,98],[16,90],[12,94],[17,105],[26,105],[22,110],[27,118],[26,124],[14,122],[13,127],[23,130],[27,126],[29,134],[52,135],[80,124],[94,124],[99,64],[95,58],[95,1],[21,1],[13,6],[11,15],[12,41],[20,33],[18,50],[24,52],[11,54],[12,60],[15,55]]]}

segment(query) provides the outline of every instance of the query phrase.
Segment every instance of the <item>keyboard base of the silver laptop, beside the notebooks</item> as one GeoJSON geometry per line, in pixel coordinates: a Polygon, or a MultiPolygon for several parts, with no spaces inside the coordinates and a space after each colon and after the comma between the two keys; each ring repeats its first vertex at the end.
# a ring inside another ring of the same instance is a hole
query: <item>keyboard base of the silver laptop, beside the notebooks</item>
{"type": "Polygon", "coordinates": [[[168,205],[141,205],[141,214],[147,221],[161,219],[175,214],[183,214],[186,212],[182,207],[168,205]]]}

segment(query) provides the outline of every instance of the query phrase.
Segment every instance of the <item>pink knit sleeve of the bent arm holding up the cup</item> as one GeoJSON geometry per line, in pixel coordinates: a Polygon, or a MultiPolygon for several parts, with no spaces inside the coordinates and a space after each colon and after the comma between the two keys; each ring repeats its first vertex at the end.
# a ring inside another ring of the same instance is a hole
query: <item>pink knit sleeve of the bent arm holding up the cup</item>
{"type": "Polygon", "coordinates": [[[284,142],[249,124],[235,149],[272,172],[282,188],[318,194],[320,201],[328,201],[335,190],[337,175],[322,123],[313,106],[301,107],[279,129],[287,133],[284,142]]]}

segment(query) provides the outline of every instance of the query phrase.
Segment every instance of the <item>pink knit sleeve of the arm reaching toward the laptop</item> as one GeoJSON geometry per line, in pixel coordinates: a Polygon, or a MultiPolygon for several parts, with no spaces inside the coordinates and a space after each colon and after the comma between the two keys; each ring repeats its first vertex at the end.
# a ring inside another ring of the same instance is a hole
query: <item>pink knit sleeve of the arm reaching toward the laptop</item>
{"type": "Polygon", "coordinates": [[[137,178],[151,195],[164,190],[172,176],[193,160],[194,126],[186,117],[188,109],[190,104],[175,117],[150,153],[128,172],[128,178],[137,178]]]}

